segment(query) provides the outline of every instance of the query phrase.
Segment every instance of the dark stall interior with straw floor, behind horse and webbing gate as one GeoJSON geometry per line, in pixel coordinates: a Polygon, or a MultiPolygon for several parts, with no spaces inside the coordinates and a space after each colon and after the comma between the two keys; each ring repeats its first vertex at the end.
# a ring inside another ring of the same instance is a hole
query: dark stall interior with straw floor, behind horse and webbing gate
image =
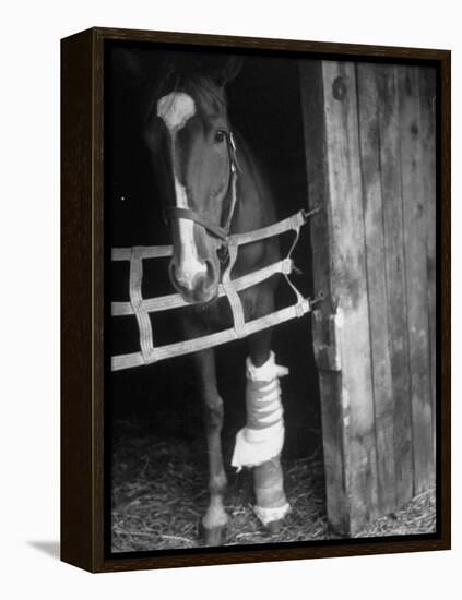
{"type": "MultiPolygon", "coordinates": [[[[161,59],[159,59],[161,60],[161,59]]],[[[116,68],[120,64],[116,61],[116,68]]],[[[115,69],[109,80],[108,118],[111,182],[111,240],[116,247],[170,242],[162,218],[162,190],[150,171],[143,141],[137,135],[140,96],[137,86],[115,69]]],[[[277,217],[306,208],[307,183],[298,65],[281,59],[245,61],[227,89],[230,119],[264,165],[277,201],[277,217]],[[272,89],[274,76],[281,82],[272,89]],[[249,94],[253,103],[249,103],[249,94]],[[259,118],[256,119],[256,107],[259,118]]],[[[283,256],[294,235],[281,236],[283,256]]],[[[294,283],[304,297],[313,296],[309,228],[301,230],[294,251],[303,275],[294,283]]],[[[171,292],[165,259],[143,261],[143,298],[171,292]]],[[[112,262],[111,300],[129,300],[130,263],[112,262]]],[[[226,298],[221,300],[226,302],[226,298]]],[[[281,281],[277,309],[294,303],[293,290],[281,281]]],[[[179,310],[150,315],[154,344],[181,339],[179,310]]],[[[293,514],[285,530],[273,541],[322,537],[328,531],[322,464],[318,376],[308,319],[289,321],[274,329],[273,349],[291,375],[281,382],[285,409],[284,470],[293,514]]],[[[111,353],[140,351],[137,320],[111,320],[111,353]]],[[[251,472],[230,468],[236,432],[246,421],[245,358],[247,341],[217,348],[218,386],[225,403],[223,431],[229,480],[226,494],[232,515],[227,543],[272,541],[252,512],[251,472]]],[[[206,503],[206,447],[202,406],[189,357],[176,357],[153,365],[111,374],[110,425],[112,431],[112,547],[115,551],[192,547],[198,543],[198,523],[206,503]],[[189,458],[189,459],[188,459],[189,458]],[[163,469],[162,466],[166,468],[163,469]],[[175,516],[175,518],[174,518],[175,516]],[[146,531],[146,528],[149,531],[146,531]]]]}

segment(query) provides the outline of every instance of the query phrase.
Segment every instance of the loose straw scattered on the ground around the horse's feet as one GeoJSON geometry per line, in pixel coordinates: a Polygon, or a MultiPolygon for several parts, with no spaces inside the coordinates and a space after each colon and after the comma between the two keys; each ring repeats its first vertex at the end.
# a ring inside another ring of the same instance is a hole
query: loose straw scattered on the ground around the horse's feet
{"type": "MultiPolygon", "coordinates": [[[[199,521],[208,505],[206,456],[200,441],[141,435],[118,423],[112,458],[112,551],[133,552],[201,545],[199,521]]],[[[228,461],[227,461],[228,463],[228,461]]],[[[283,460],[292,505],[283,528],[269,535],[253,514],[252,473],[227,470],[226,544],[333,539],[325,516],[321,452],[283,460]]],[[[433,490],[402,511],[378,519],[358,537],[430,532],[435,529],[433,490]]]]}

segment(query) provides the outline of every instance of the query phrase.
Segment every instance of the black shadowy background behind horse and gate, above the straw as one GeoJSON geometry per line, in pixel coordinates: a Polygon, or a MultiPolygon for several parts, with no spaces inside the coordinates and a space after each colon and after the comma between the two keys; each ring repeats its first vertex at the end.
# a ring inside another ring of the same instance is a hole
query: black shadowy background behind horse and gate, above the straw
{"type": "MultiPolygon", "coordinates": [[[[169,243],[168,228],[161,214],[162,190],[156,189],[155,173],[142,140],[144,94],[150,81],[158,75],[163,52],[132,48],[127,52],[114,48],[110,58],[106,116],[110,245],[169,243]]],[[[263,166],[276,200],[279,219],[306,208],[297,62],[246,56],[240,73],[227,86],[227,97],[232,127],[246,139],[263,166]]],[[[288,250],[292,239],[292,233],[281,238],[283,251],[288,250]]],[[[305,296],[313,296],[309,227],[303,228],[294,257],[303,271],[301,276],[294,276],[295,284],[305,296]]],[[[173,291],[166,275],[167,261],[144,261],[144,297],[173,291]]],[[[112,300],[129,299],[128,277],[128,262],[112,264],[109,281],[112,300]]],[[[292,304],[294,300],[292,290],[281,278],[277,307],[292,304]]],[[[177,310],[151,315],[155,345],[181,339],[176,329],[176,313],[177,310]]],[[[111,355],[139,350],[134,316],[114,317],[110,325],[111,355]]],[[[291,370],[291,375],[282,380],[286,422],[284,456],[301,457],[318,448],[321,439],[310,317],[275,327],[272,348],[277,362],[291,370]]],[[[246,420],[246,340],[218,347],[216,352],[218,388],[225,401],[224,453],[229,463],[234,436],[246,420]]],[[[133,421],[142,430],[166,437],[192,440],[202,435],[202,407],[189,357],[112,373],[108,401],[109,430],[118,421],[133,421]]]]}

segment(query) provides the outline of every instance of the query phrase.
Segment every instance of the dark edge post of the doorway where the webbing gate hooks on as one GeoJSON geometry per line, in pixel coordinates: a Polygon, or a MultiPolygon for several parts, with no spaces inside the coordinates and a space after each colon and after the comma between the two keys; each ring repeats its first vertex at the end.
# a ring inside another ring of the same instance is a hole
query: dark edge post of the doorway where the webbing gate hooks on
{"type": "Polygon", "coordinates": [[[329,177],[325,157],[324,89],[320,61],[300,60],[300,93],[304,117],[308,180],[307,203],[323,209],[309,220],[312,249],[313,286],[324,291],[325,300],[313,313],[312,331],[321,397],[322,447],[325,472],[327,512],[331,527],[340,535],[350,533],[350,504],[346,493],[344,455],[344,410],[342,379],[330,360],[331,338],[331,224],[329,220],[329,177]],[[323,356],[327,355],[324,359],[323,356]]]}

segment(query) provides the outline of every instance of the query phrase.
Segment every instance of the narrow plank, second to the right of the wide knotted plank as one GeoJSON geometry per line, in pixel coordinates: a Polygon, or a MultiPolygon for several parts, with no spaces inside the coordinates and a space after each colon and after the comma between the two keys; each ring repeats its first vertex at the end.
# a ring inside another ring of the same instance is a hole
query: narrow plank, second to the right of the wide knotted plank
{"type": "Polygon", "coordinates": [[[393,445],[396,504],[413,495],[411,383],[407,337],[407,299],[401,189],[401,131],[398,72],[376,65],[378,84],[384,271],[393,393],[393,445]]]}

